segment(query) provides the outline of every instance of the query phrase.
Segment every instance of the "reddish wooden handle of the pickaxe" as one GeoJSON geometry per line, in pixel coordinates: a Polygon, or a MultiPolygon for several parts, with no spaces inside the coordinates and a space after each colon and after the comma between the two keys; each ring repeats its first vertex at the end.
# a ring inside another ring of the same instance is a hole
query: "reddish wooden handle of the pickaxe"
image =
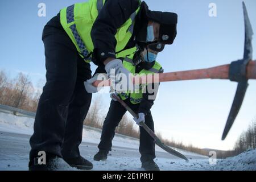
{"type": "MultiPolygon", "coordinates": [[[[218,67],[208,68],[208,69],[195,69],[189,71],[180,72],[169,72],[169,73],[159,73],[159,82],[166,81],[181,81],[181,80],[199,80],[199,79],[229,79],[229,66],[230,64],[221,65],[218,67]]],[[[154,81],[154,76],[152,79],[147,79],[146,76],[133,77],[133,82],[135,79],[139,79],[139,84],[149,84],[154,81]]],[[[246,78],[256,79],[256,61],[250,61],[246,67],[246,78]]],[[[95,81],[94,86],[110,86],[110,80],[105,81],[95,81]]]]}

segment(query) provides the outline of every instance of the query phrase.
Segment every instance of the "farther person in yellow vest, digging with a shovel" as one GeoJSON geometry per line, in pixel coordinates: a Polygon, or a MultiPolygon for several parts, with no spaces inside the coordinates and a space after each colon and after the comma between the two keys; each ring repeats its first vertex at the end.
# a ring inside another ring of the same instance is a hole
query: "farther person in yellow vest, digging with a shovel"
{"type": "MultiPolygon", "coordinates": [[[[163,44],[151,44],[150,46],[148,46],[148,51],[144,49],[139,57],[132,56],[133,59],[130,59],[129,57],[123,59],[123,65],[133,74],[138,73],[147,75],[148,73],[163,73],[161,65],[157,61],[155,61],[158,52],[163,51],[163,48],[163,44]]],[[[144,88],[146,92],[142,92],[142,90],[139,90],[139,93],[137,92],[118,94],[119,97],[121,97],[122,100],[124,100],[126,104],[135,111],[135,113],[138,113],[139,119],[135,119],[135,121],[137,123],[144,121],[152,131],[154,131],[154,121],[152,119],[150,109],[154,104],[154,99],[150,98],[150,95],[154,95],[156,97],[158,85],[159,84],[155,86],[157,88],[154,88],[152,85],[147,85],[144,88]],[[151,88],[151,86],[152,88],[154,88],[154,93],[148,92],[148,88],[151,88]]],[[[112,140],[115,134],[115,127],[118,126],[118,123],[121,121],[123,115],[126,113],[125,107],[123,107],[114,98],[112,99],[113,100],[110,104],[108,115],[106,116],[106,119],[104,121],[101,134],[101,142],[98,145],[99,151],[96,155],[94,155],[94,160],[97,161],[107,159],[108,153],[109,151],[111,151],[112,148],[112,140]]],[[[139,129],[139,152],[141,153],[142,168],[150,171],[158,171],[159,167],[153,160],[155,158],[154,139],[152,139],[152,137],[150,137],[150,135],[142,127],[140,127],[139,129]]]]}

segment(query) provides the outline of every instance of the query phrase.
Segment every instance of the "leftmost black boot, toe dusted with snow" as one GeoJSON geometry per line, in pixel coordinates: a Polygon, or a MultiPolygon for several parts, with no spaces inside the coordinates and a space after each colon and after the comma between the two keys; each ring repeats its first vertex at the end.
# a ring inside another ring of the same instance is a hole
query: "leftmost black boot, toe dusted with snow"
{"type": "MultiPolygon", "coordinates": [[[[32,158],[28,163],[29,171],[69,171],[74,170],[62,158],[57,155],[46,155],[46,164],[39,164],[39,158],[32,158]]],[[[40,159],[39,159],[40,160],[40,159]]]]}

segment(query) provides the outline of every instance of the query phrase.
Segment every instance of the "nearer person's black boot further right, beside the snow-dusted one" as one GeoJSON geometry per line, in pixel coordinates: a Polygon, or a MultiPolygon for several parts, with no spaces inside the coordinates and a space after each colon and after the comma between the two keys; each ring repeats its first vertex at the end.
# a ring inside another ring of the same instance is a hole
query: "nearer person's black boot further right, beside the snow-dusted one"
{"type": "Polygon", "coordinates": [[[79,156],[77,158],[71,158],[71,159],[66,159],[64,158],[65,162],[69,164],[71,167],[75,167],[77,169],[82,169],[82,170],[90,170],[93,168],[93,164],[89,162],[89,160],[86,160],[82,156],[79,156]]]}

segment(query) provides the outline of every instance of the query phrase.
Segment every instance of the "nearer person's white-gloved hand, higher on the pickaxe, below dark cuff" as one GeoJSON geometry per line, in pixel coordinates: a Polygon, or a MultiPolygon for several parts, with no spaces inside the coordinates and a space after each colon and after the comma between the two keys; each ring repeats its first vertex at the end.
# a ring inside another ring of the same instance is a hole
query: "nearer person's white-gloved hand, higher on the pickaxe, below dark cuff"
{"type": "MultiPolygon", "coordinates": [[[[131,83],[131,73],[123,67],[123,63],[119,59],[110,61],[105,66],[114,90],[119,92],[127,92],[129,90],[129,83],[131,83]],[[122,73],[122,74],[121,74],[122,73]]],[[[113,91],[113,90],[112,90],[113,91]]]]}

